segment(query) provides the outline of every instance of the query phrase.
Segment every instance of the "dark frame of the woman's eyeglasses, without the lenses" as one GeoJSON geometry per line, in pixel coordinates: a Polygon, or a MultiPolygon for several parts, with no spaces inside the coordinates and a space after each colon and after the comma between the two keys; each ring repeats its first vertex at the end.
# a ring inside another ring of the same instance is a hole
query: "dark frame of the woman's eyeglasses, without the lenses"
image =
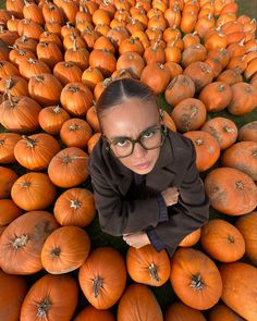
{"type": "Polygon", "coordinates": [[[120,137],[120,138],[125,138],[125,139],[127,139],[127,140],[130,140],[130,141],[132,143],[132,151],[131,151],[130,155],[126,155],[126,156],[117,156],[117,155],[114,153],[114,151],[112,150],[112,148],[111,148],[111,144],[112,144],[113,141],[111,141],[111,139],[108,139],[107,136],[106,136],[103,133],[101,134],[101,136],[107,140],[107,144],[108,144],[107,147],[106,147],[106,150],[107,150],[108,152],[110,152],[112,156],[114,156],[115,158],[126,158],[126,157],[132,156],[133,152],[134,152],[134,149],[135,149],[135,145],[136,145],[136,143],[138,143],[138,144],[139,144],[145,150],[154,150],[154,149],[157,149],[157,148],[159,148],[159,147],[161,147],[161,146],[163,145],[163,143],[164,143],[164,138],[167,137],[167,135],[168,135],[168,128],[167,128],[166,125],[161,124],[160,126],[150,126],[150,127],[146,128],[145,131],[143,131],[143,132],[138,135],[138,137],[137,137],[136,139],[133,139],[133,138],[131,138],[131,137],[120,137]],[[147,131],[149,131],[150,128],[152,128],[152,129],[154,129],[154,128],[155,128],[155,129],[160,129],[160,133],[161,133],[161,143],[160,143],[159,146],[157,146],[157,147],[155,147],[155,148],[146,148],[146,147],[142,144],[142,141],[140,141],[143,135],[144,135],[147,131]]]}

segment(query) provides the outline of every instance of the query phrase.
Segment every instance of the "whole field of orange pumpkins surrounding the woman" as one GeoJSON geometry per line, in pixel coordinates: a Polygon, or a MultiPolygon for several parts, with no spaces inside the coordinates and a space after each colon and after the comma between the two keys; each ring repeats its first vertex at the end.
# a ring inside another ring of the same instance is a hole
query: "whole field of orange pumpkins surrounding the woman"
{"type": "Polygon", "coordinates": [[[237,10],[233,0],[7,0],[1,320],[257,320],[256,21],[237,10]],[[171,259],[88,234],[95,102],[122,77],[150,86],[164,124],[193,140],[218,213],[171,259]],[[253,119],[238,127],[219,112],[253,119]],[[161,308],[158,286],[175,301],[161,308]]]}

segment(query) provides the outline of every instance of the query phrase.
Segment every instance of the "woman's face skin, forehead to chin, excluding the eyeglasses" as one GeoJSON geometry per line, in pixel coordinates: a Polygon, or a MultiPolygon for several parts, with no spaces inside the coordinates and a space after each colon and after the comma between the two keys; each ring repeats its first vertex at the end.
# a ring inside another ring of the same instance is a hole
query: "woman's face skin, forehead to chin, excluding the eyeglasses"
{"type": "MultiPolygon", "coordinates": [[[[108,140],[119,137],[137,139],[145,129],[160,126],[158,107],[155,102],[146,102],[135,98],[127,99],[102,113],[101,126],[108,140]]],[[[160,147],[146,150],[136,143],[133,153],[119,158],[119,160],[127,169],[143,175],[154,169],[159,153],[160,147]]]]}

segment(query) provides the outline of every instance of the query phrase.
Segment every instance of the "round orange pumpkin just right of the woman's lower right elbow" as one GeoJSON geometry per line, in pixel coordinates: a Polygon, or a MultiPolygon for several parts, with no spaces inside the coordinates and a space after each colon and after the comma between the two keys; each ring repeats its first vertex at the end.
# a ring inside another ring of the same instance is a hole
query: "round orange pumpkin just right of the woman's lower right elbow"
{"type": "Polygon", "coordinates": [[[231,223],[213,219],[201,227],[200,244],[204,250],[221,262],[234,262],[245,254],[245,240],[231,223]]]}

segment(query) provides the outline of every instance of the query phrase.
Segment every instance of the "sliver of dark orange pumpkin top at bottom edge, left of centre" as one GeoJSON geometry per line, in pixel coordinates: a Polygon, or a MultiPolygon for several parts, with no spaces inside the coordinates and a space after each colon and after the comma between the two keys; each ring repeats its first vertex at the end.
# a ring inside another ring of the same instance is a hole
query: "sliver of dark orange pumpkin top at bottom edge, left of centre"
{"type": "Polygon", "coordinates": [[[87,306],[74,319],[74,321],[115,321],[113,314],[109,310],[98,310],[93,306],[87,306]]]}

